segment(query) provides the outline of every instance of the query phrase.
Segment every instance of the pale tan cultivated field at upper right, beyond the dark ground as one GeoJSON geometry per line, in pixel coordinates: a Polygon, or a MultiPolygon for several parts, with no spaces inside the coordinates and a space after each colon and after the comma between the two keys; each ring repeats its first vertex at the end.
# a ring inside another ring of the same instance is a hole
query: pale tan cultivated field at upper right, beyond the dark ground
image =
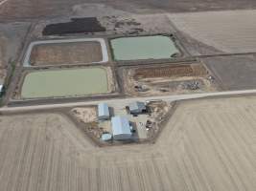
{"type": "Polygon", "coordinates": [[[225,53],[256,52],[256,11],[170,14],[175,27],[225,53]]]}

